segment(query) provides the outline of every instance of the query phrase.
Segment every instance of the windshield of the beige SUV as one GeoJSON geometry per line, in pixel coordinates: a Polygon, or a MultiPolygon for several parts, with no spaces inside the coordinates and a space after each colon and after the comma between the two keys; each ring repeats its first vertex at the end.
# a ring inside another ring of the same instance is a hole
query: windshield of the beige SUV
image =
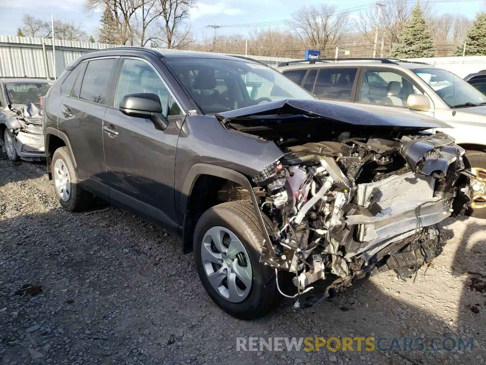
{"type": "Polygon", "coordinates": [[[453,107],[473,107],[486,103],[486,96],[462,78],[440,69],[412,70],[444,100],[453,107]]]}

